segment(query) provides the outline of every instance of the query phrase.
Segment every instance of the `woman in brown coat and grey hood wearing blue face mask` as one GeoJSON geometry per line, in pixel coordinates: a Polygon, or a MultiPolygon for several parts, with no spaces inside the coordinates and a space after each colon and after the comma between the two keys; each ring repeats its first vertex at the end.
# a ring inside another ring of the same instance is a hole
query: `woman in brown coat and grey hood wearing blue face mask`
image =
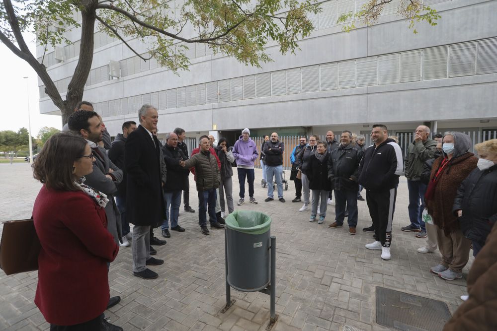
{"type": "Polygon", "coordinates": [[[442,255],[440,264],[431,267],[430,271],[443,279],[454,280],[462,277],[471,241],[464,238],[452,207],[457,189],[476,168],[478,159],[468,151],[471,139],[464,133],[449,132],[442,142],[444,156],[433,162],[424,197],[428,213],[437,227],[438,249],[442,255]]]}

